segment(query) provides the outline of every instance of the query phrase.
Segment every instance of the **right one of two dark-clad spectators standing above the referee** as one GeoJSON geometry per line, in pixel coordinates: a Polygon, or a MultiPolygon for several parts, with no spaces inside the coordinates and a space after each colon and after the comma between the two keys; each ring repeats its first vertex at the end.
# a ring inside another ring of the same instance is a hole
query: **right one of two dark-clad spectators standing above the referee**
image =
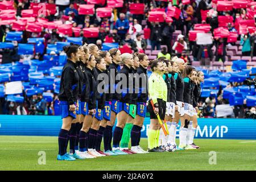
{"type": "Polygon", "coordinates": [[[163,45],[167,46],[168,53],[171,53],[171,40],[174,33],[174,26],[172,22],[167,23],[163,28],[163,45]]]}

